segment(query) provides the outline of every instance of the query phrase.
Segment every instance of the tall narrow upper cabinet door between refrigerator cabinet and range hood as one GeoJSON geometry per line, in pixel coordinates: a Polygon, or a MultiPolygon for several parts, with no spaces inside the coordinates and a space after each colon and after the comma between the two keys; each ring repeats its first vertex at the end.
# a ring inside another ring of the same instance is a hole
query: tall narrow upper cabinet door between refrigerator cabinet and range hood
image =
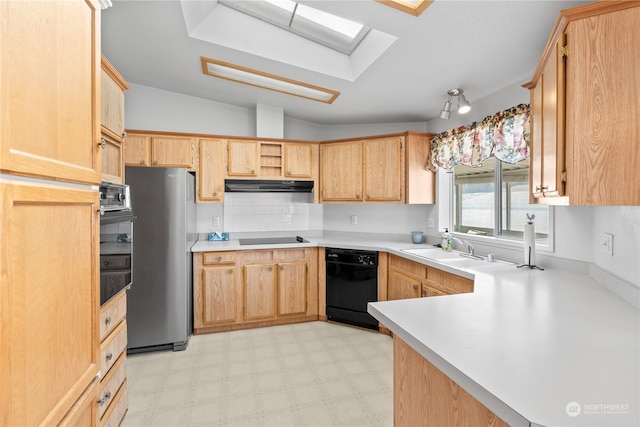
{"type": "Polygon", "coordinates": [[[221,202],[224,196],[224,157],[222,139],[200,140],[198,201],[221,202]]]}

